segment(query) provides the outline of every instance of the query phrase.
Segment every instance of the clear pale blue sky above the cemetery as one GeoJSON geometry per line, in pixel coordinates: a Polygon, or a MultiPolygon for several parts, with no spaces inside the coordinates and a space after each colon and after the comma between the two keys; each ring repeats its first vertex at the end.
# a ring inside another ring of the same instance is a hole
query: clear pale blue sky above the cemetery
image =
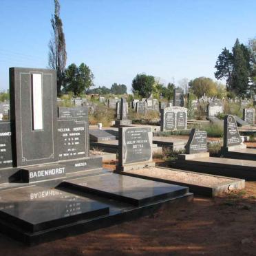
{"type": "MultiPolygon", "coordinates": [[[[223,47],[256,36],[256,1],[60,0],[67,65],[86,63],[96,86],[138,73],[164,83],[214,78],[223,47]]],[[[9,67],[47,67],[54,0],[0,0],[0,89],[9,67]]]]}

